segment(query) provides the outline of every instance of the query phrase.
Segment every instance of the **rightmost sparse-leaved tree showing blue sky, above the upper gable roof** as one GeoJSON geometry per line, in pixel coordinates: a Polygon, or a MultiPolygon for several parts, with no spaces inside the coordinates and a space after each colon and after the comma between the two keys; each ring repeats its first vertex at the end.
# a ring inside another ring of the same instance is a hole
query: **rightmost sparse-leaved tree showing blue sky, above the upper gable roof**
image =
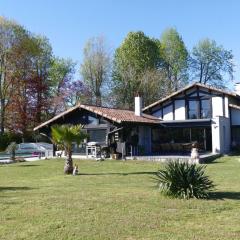
{"type": "Polygon", "coordinates": [[[225,77],[233,78],[233,68],[232,51],[225,50],[213,40],[204,39],[192,50],[192,75],[200,83],[224,88],[225,77]]]}

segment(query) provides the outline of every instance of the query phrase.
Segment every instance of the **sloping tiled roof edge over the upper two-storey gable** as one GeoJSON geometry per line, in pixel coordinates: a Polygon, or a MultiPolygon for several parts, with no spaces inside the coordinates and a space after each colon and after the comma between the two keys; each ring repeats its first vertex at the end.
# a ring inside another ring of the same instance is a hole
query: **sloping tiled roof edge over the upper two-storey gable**
{"type": "Polygon", "coordinates": [[[215,92],[218,92],[218,93],[230,95],[232,97],[240,97],[238,94],[236,94],[234,92],[228,92],[226,90],[222,90],[222,89],[219,89],[219,88],[215,88],[215,87],[211,87],[211,86],[208,86],[208,85],[205,85],[205,84],[201,84],[201,83],[195,82],[195,83],[190,84],[190,85],[188,85],[188,86],[186,86],[184,88],[179,89],[176,92],[173,92],[172,94],[166,96],[165,98],[162,98],[162,99],[160,99],[160,100],[158,100],[158,101],[156,101],[156,102],[146,106],[145,108],[143,108],[143,111],[146,111],[147,109],[151,109],[152,107],[158,105],[159,103],[163,103],[163,102],[169,100],[170,98],[172,98],[172,97],[174,97],[174,96],[176,96],[176,95],[178,95],[178,94],[180,94],[180,93],[182,93],[182,92],[184,92],[184,91],[186,91],[186,90],[188,90],[188,89],[190,89],[192,87],[195,87],[195,86],[202,87],[202,88],[205,88],[205,89],[208,89],[208,90],[212,90],[212,91],[215,91],[215,92]]]}

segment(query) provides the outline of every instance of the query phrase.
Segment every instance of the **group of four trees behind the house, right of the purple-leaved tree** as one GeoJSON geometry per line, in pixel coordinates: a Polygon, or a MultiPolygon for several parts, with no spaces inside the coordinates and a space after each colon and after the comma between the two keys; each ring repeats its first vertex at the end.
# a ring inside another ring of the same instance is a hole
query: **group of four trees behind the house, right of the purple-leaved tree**
{"type": "Polygon", "coordinates": [[[90,39],[81,65],[92,103],[133,109],[138,93],[148,105],[193,81],[226,88],[233,79],[233,54],[204,39],[188,51],[175,28],[160,39],[130,32],[111,54],[104,38],[90,39]]]}

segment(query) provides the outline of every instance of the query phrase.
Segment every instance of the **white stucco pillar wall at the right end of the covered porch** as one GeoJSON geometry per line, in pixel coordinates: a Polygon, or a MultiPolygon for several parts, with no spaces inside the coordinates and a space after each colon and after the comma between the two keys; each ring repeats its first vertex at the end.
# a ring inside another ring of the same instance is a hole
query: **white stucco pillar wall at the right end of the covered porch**
{"type": "Polygon", "coordinates": [[[230,119],[218,116],[212,119],[212,152],[228,153],[231,145],[230,119]]]}

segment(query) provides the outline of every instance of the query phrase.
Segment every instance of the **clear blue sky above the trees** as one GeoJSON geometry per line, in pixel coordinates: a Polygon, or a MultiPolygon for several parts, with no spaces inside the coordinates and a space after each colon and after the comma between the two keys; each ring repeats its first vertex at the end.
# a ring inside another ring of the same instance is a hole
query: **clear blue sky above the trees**
{"type": "Polygon", "coordinates": [[[175,27],[188,50],[204,38],[232,50],[240,81],[239,0],[0,0],[0,15],[45,35],[54,54],[78,69],[91,37],[104,36],[114,51],[130,31],[160,38],[175,27]]]}

